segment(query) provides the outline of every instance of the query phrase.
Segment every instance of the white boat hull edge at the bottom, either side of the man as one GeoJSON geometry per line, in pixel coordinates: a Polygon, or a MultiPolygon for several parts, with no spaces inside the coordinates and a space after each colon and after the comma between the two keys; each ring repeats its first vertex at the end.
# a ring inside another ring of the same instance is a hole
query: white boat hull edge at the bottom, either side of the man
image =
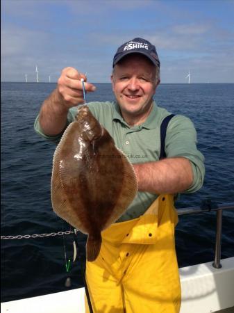
{"type": "MultiPolygon", "coordinates": [[[[234,257],[212,263],[180,268],[182,304],[180,313],[210,313],[233,307],[234,257]]],[[[22,300],[1,303],[2,313],[83,313],[85,289],[72,289],[22,300]]]]}

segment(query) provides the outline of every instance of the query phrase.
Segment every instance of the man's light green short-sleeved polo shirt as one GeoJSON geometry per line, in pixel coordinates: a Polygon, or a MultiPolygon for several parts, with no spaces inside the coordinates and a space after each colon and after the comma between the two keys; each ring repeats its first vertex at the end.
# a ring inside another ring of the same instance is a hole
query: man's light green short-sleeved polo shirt
{"type": "MultiPolygon", "coordinates": [[[[158,161],[160,155],[160,125],[162,120],[170,113],[153,103],[153,109],[142,125],[130,127],[122,118],[116,102],[90,102],[88,104],[92,114],[110,133],[115,145],[126,154],[131,163],[145,163],[158,161]]],[[[67,125],[75,120],[77,107],[69,110],[67,125]]],[[[60,135],[47,136],[43,134],[38,122],[35,120],[35,131],[51,141],[58,142],[60,135]]],[[[190,160],[193,170],[193,183],[185,193],[193,193],[203,184],[205,175],[204,157],[197,150],[197,131],[192,121],[183,115],[176,115],[169,122],[165,140],[167,157],[185,157],[190,160]]],[[[118,221],[137,218],[144,214],[150,204],[158,195],[139,191],[118,221]]]]}

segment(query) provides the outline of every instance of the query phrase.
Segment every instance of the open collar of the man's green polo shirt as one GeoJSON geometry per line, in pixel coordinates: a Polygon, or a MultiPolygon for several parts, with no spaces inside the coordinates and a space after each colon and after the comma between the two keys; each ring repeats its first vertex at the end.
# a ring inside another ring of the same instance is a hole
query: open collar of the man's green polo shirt
{"type": "MultiPolygon", "coordinates": [[[[153,107],[151,110],[151,113],[149,113],[149,116],[147,118],[146,121],[144,121],[144,123],[142,123],[142,127],[146,128],[146,129],[153,129],[156,128],[158,125],[158,120],[156,118],[156,116],[158,115],[158,106],[156,104],[156,102],[153,101],[153,107]]],[[[113,112],[113,117],[112,120],[119,120],[119,122],[121,122],[122,124],[126,125],[127,127],[129,127],[129,125],[125,122],[125,120],[122,118],[120,109],[119,109],[119,105],[117,104],[117,102],[114,102],[114,112],[113,112]]]]}

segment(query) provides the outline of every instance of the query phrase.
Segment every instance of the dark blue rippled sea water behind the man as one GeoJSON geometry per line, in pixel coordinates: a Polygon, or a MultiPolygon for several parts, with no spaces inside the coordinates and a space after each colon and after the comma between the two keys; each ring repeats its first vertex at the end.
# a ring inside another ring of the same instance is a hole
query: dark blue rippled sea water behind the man
{"type": "MultiPolygon", "coordinates": [[[[114,100],[110,83],[96,84],[87,102],[114,100]]],[[[50,182],[56,145],[40,138],[33,123],[55,83],[1,83],[1,236],[73,230],[51,208],[50,182]]],[[[203,188],[181,195],[176,207],[202,200],[234,202],[234,85],[161,84],[158,106],[194,122],[206,157],[203,188]]],[[[215,213],[180,216],[176,227],[179,266],[214,259],[215,213]]],[[[73,262],[74,235],[1,240],[1,301],[83,287],[81,264],[73,262]],[[66,261],[71,260],[67,272],[66,261]]],[[[224,211],[222,258],[234,256],[234,211],[224,211]]],[[[85,236],[78,234],[83,253],[85,236]]]]}

